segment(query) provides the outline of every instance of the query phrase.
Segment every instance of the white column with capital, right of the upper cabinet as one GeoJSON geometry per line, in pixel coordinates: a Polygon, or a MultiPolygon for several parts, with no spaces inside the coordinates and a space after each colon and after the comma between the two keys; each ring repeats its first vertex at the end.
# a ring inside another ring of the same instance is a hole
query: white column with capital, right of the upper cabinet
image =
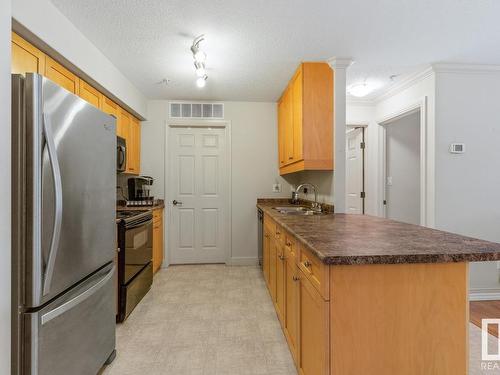
{"type": "Polygon", "coordinates": [[[346,212],[346,73],[353,63],[351,58],[332,57],[328,64],[333,79],[333,203],[335,212],[346,212]]]}

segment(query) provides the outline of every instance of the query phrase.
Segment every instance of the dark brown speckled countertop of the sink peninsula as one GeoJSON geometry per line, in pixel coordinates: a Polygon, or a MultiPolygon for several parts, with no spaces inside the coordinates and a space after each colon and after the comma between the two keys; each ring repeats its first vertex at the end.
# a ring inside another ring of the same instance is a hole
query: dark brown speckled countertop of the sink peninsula
{"type": "MultiPolygon", "coordinates": [[[[257,206],[325,264],[397,264],[500,260],[500,244],[367,215],[292,216],[257,206]]],[[[283,203],[279,203],[283,205],[283,203]]]]}

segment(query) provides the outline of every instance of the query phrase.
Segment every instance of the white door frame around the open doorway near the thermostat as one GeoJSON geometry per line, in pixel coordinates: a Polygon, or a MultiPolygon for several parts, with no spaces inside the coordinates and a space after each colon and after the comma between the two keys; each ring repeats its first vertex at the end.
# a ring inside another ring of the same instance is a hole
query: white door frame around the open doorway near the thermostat
{"type": "Polygon", "coordinates": [[[385,125],[399,120],[409,114],[420,112],[420,225],[426,226],[427,220],[427,96],[411,103],[406,107],[402,107],[389,115],[378,119],[379,139],[381,158],[379,158],[379,181],[381,183],[379,212],[383,217],[387,217],[387,206],[384,205],[386,200],[386,179],[387,179],[387,134],[385,125]]]}

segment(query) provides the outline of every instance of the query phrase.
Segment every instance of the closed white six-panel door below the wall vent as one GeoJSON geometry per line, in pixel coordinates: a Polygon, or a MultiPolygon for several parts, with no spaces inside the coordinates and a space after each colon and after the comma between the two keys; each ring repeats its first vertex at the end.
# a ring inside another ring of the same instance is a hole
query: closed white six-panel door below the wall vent
{"type": "Polygon", "coordinates": [[[226,143],[225,128],[170,128],[172,264],[226,262],[226,143]]]}

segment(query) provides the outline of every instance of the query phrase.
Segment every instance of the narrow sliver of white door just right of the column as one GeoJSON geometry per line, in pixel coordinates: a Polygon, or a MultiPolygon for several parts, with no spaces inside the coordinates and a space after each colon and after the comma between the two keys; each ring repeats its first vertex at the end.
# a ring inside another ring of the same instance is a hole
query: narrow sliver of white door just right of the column
{"type": "Polygon", "coordinates": [[[347,133],[347,213],[363,214],[363,128],[347,133]]]}

